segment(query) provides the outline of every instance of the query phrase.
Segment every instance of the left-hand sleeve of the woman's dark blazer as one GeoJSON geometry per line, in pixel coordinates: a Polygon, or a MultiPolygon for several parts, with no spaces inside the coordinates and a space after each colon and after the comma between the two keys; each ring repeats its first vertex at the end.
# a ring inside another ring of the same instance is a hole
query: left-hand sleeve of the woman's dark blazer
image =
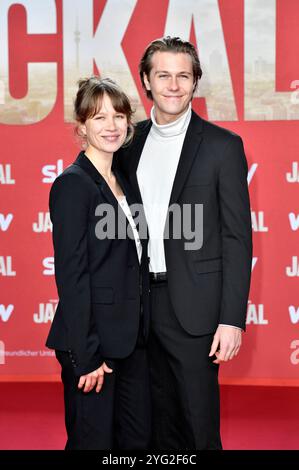
{"type": "Polygon", "coordinates": [[[68,351],[78,376],[92,372],[103,362],[99,338],[91,323],[89,208],[88,187],[80,175],[67,174],[55,180],[50,192],[50,216],[59,314],[63,315],[68,351]]]}

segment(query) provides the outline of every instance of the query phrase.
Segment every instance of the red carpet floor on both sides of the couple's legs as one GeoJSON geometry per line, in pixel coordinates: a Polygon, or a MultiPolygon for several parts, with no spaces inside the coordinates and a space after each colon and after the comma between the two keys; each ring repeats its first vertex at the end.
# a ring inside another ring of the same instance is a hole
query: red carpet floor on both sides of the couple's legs
{"type": "MultiPolygon", "coordinates": [[[[224,449],[299,449],[299,393],[288,387],[222,386],[224,449]]],[[[0,449],[62,449],[59,383],[0,383],[0,449]]]]}

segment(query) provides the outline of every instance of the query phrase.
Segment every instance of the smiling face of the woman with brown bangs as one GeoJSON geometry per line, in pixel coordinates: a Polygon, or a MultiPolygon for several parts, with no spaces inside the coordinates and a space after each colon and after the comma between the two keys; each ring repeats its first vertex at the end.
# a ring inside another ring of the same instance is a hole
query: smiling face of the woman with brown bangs
{"type": "Polygon", "coordinates": [[[127,116],[115,111],[106,94],[97,114],[81,125],[81,131],[87,139],[87,150],[105,154],[113,154],[122,146],[126,140],[127,128],[127,116]]]}

